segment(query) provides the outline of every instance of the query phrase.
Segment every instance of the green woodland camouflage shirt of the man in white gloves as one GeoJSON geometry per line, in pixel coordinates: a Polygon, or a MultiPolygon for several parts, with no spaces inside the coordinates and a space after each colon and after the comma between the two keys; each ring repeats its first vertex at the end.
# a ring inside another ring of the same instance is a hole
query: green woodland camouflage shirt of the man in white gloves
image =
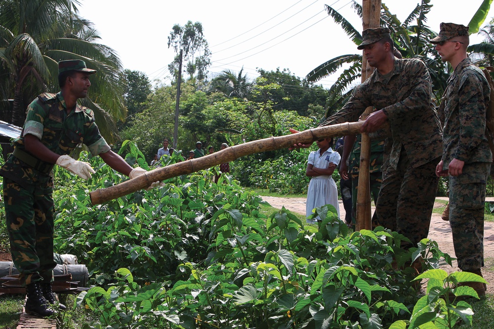
{"type": "MultiPolygon", "coordinates": [[[[93,112],[76,105],[75,110],[67,114],[61,92],[41,94],[29,105],[21,136],[13,142],[16,148],[29,154],[24,144],[27,134],[38,137],[44,146],[60,155],[69,154],[81,143],[85,144],[93,155],[110,150],[94,122],[93,112]]],[[[15,156],[10,156],[0,170],[1,176],[19,184],[25,183],[25,179],[36,183],[40,174],[41,172],[19,161],[15,156]]]]}

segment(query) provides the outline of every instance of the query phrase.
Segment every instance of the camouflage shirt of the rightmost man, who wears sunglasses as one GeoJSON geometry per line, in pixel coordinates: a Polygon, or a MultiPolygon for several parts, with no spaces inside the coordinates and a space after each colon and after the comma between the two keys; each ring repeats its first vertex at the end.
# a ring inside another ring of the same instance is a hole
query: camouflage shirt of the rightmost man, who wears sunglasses
{"type": "Polygon", "coordinates": [[[491,89],[484,73],[469,58],[454,69],[439,107],[444,123],[443,169],[456,158],[465,163],[492,162],[485,136],[491,89]]]}

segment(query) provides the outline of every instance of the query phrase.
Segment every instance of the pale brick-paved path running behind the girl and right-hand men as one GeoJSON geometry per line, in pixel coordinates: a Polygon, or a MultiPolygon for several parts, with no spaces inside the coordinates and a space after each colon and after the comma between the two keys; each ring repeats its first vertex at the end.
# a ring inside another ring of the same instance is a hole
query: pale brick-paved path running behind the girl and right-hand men
{"type": "MultiPolygon", "coordinates": [[[[283,206],[289,211],[305,215],[305,198],[278,198],[271,196],[263,196],[262,199],[268,202],[274,208],[281,209],[283,206]]],[[[448,198],[437,198],[442,200],[448,200],[448,198]]],[[[494,198],[487,198],[486,201],[494,201],[494,198]]],[[[443,207],[444,203],[436,202],[434,208],[443,207]]],[[[345,214],[345,208],[341,200],[339,201],[340,214],[345,214]]],[[[374,207],[372,207],[372,211],[374,207]]],[[[438,243],[439,249],[442,252],[454,257],[453,250],[453,238],[451,235],[450,222],[441,219],[441,214],[432,214],[431,225],[429,228],[429,239],[438,243]]],[[[494,223],[492,221],[486,221],[484,225],[484,257],[486,259],[486,267],[482,270],[487,282],[494,283],[494,272],[487,271],[487,268],[493,265],[494,262],[494,223]],[[491,259],[489,259],[491,258],[491,259]]],[[[457,271],[456,261],[453,261],[453,268],[449,265],[442,266],[445,271],[453,272],[457,271]]],[[[494,293],[494,284],[488,285],[488,293],[494,293]]]]}

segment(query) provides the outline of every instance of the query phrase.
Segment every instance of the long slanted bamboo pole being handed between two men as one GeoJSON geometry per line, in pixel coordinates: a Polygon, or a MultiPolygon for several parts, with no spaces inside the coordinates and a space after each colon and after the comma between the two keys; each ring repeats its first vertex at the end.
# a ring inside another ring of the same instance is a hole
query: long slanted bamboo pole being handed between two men
{"type": "Polygon", "coordinates": [[[364,121],[345,122],[314,129],[304,130],[296,134],[270,137],[244,144],[227,147],[197,159],[175,163],[163,168],[148,171],[134,179],[125,181],[115,186],[92,191],[89,193],[93,205],[119,198],[129,193],[149,187],[151,183],[163,181],[172,177],[190,174],[199,170],[210,168],[221,163],[238,159],[248,154],[272,151],[280,148],[288,148],[294,144],[312,144],[323,138],[355,135],[360,133],[360,127],[364,121]]]}

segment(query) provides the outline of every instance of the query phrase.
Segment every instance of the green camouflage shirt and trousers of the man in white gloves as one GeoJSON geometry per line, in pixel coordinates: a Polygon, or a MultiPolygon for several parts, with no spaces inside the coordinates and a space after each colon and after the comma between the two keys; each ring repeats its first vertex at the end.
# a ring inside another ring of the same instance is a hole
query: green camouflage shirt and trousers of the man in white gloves
{"type": "MultiPolygon", "coordinates": [[[[24,136],[27,134],[38,137],[44,146],[60,155],[70,153],[80,143],[87,145],[93,155],[110,150],[99,133],[92,111],[76,105],[67,115],[61,93],[41,94],[29,105],[21,137],[14,141],[14,146],[26,153],[24,136]]],[[[21,284],[51,279],[55,266],[52,174],[36,170],[10,155],[0,168],[0,176],[4,178],[12,259],[21,273],[21,284]],[[33,232],[36,232],[36,241],[30,241],[33,232]]]]}

